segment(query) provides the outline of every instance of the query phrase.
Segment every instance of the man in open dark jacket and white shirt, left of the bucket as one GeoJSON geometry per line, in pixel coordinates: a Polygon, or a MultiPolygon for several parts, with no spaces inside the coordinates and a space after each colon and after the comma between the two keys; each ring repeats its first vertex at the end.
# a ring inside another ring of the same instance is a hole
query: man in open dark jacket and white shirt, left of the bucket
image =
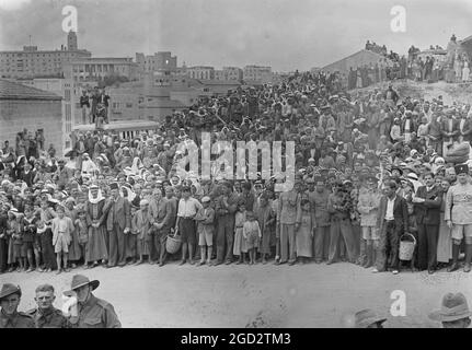
{"type": "Polygon", "coordinates": [[[400,236],[406,232],[408,211],[404,198],[396,195],[396,183],[389,180],[380,199],[377,226],[380,232],[376,267],[372,272],[383,272],[389,267],[393,275],[399,273],[400,236]]]}

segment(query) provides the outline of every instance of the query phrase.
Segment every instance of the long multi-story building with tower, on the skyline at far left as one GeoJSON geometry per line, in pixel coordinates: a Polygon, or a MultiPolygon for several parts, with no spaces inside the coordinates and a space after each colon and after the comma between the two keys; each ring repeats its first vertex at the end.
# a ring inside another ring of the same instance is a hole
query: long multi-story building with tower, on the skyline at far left
{"type": "Polygon", "coordinates": [[[60,50],[38,50],[37,46],[24,46],[23,50],[0,51],[0,77],[7,79],[61,78],[68,62],[91,57],[88,50],[78,49],[77,34],[70,32],[68,45],[60,50]]]}

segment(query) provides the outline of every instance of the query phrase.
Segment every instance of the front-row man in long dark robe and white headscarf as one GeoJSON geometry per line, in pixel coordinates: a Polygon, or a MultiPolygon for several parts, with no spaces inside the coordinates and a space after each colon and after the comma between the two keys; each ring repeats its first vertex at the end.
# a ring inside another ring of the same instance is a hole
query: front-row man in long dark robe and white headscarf
{"type": "Polygon", "coordinates": [[[108,259],[106,248],[106,219],[105,198],[97,186],[90,188],[89,200],[85,205],[87,222],[89,224],[89,242],[87,243],[87,261],[93,262],[93,267],[99,265],[99,261],[104,262],[108,259]]]}

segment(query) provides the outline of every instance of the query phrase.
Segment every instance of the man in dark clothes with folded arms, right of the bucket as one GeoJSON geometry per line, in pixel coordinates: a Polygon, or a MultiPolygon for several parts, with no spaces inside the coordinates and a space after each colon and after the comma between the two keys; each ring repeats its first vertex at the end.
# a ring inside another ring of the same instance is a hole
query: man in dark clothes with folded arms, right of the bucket
{"type": "Polygon", "coordinates": [[[433,173],[426,173],[423,178],[426,186],[419,187],[413,198],[418,224],[418,267],[419,270],[427,268],[431,275],[436,270],[442,192],[435,185],[433,173]]]}

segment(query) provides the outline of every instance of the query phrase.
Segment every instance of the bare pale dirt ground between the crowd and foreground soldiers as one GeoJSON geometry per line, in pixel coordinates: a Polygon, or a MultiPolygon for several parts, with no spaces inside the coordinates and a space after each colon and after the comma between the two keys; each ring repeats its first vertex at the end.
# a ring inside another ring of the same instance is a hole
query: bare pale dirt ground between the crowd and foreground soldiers
{"type": "Polygon", "coordinates": [[[111,302],[124,327],[339,327],[343,315],[371,307],[388,317],[385,327],[438,327],[427,314],[447,292],[462,292],[472,304],[472,275],[462,271],[371,273],[339,262],[331,266],[218,266],[175,264],[55,273],[5,273],[0,281],[23,290],[20,310],[34,307],[34,289],[51,283],[60,293],[74,273],[97,279],[95,295],[111,302]],[[406,316],[393,317],[392,291],[406,295],[406,316]]]}

